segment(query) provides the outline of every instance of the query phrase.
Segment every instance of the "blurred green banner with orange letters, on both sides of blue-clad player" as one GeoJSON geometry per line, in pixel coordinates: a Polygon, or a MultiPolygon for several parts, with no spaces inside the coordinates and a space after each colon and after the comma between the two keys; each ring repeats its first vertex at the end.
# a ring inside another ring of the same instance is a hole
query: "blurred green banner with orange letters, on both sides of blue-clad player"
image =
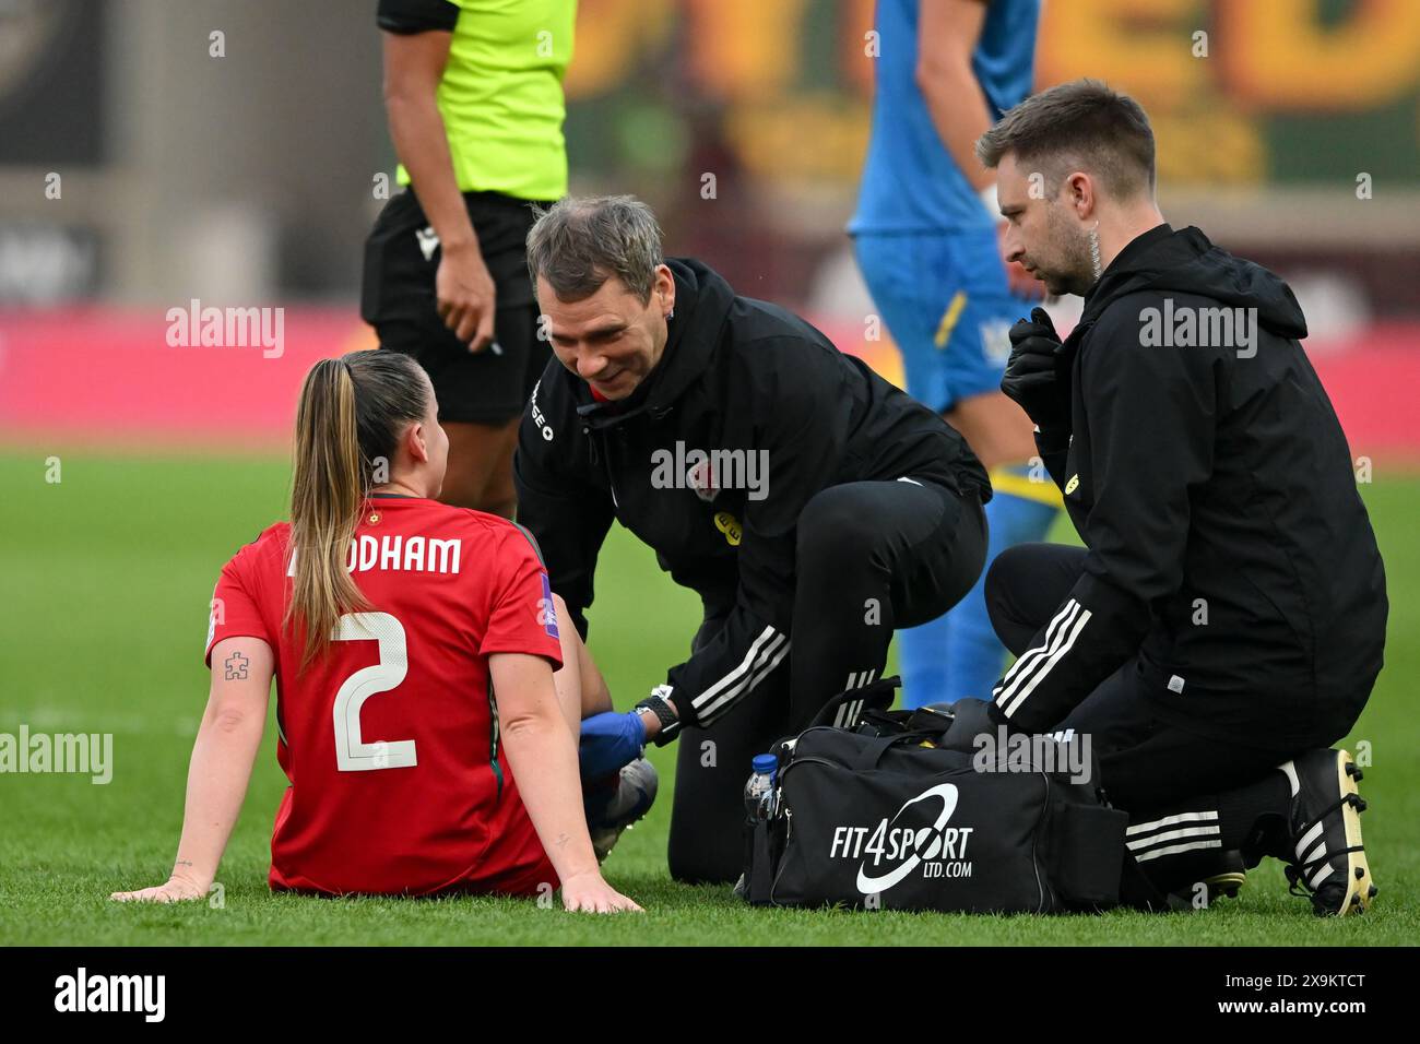
{"type": "MultiPolygon", "coordinates": [[[[755,179],[855,182],[872,26],[872,0],[582,0],[575,165],[723,151],[755,179]]],[[[1045,0],[1037,82],[1082,75],[1149,109],[1164,183],[1420,185],[1416,0],[1045,0]]]]}

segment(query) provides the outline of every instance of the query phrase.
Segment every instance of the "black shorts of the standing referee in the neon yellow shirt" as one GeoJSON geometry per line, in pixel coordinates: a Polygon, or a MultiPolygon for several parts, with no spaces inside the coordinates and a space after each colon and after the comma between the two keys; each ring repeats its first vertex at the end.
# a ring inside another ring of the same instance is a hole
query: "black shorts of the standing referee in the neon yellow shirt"
{"type": "Polygon", "coordinates": [[[469,217],[497,293],[491,348],[471,354],[439,318],[435,273],[442,253],[412,189],[385,205],[365,240],[361,318],[382,348],[412,355],[429,374],[439,419],[501,425],[523,412],[551,358],[537,337],[538,308],[528,280],[525,240],[532,226],[527,200],[466,192],[469,217]]]}

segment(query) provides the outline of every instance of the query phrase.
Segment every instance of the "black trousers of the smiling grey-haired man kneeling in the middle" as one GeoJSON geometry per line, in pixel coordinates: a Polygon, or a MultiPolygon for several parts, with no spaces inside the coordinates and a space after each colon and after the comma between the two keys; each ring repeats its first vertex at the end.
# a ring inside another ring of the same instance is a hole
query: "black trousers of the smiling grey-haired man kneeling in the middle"
{"type": "MultiPolygon", "coordinates": [[[[804,507],[794,562],[790,656],[709,729],[687,727],[676,760],[670,875],[740,876],[750,760],[801,732],[829,699],[882,676],[893,629],[936,619],[981,575],[985,511],[929,480],[831,486],[804,507]]],[[[711,639],[728,599],[706,605],[694,648],[711,639]]]]}

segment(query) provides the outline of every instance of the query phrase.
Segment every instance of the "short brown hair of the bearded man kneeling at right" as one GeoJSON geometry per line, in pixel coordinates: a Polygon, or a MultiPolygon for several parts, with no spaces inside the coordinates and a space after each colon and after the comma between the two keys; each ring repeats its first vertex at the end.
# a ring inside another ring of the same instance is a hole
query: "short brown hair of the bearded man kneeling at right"
{"type": "Polygon", "coordinates": [[[1149,116],[1133,98],[1099,80],[1074,80],[1027,98],[976,143],[977,159],[987,168],[1008,152],[1018,168],[1045,176],[1051,196],[1071,170],[1095,175],[1118,199],[1153,195],[1149,116]]]}

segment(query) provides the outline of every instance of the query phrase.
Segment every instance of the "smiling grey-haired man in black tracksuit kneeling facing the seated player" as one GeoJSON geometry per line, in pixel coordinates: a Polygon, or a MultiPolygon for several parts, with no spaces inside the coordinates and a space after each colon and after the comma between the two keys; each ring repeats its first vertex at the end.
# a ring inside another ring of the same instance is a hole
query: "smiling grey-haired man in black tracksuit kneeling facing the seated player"
{"type": "MultiPolygon", "coordinates": [[[[544,220],[575,224],[578,207],[615,216],[618,206],[630,205],[574,200],[544,220]]],[[[878,679],[895,626],[936,618],[971,588],[990,483],[951,428],[804,320],[736,295],[696,260],[656,271],[665,283],[648,297],[648,321],[663,347],[615,399],[579,375],[599,362],[586,361],[595,338],[558,332],[565,303],[555,270],[551,284],[541,273],[558,358],[523,422],[518,518],[584,636],[612,518],[701,597],[693,652],[652,699],[656,741],[684,733],[669,861],[680,879],[734,881],[751,757],[832,696],[878,679]],[[744,467],[716,472],[696,450],[744,467]]],[[[615,277],[589,300],[601,295],[640,317],[639,295],[615,277]]],[[[616,726],[622,716],[606,717],[616,726]]],[[[588,720],[584,737],[604,724],[588,720]]],[[[584,743],[584,766],[585,754],[584,743]]]]}

